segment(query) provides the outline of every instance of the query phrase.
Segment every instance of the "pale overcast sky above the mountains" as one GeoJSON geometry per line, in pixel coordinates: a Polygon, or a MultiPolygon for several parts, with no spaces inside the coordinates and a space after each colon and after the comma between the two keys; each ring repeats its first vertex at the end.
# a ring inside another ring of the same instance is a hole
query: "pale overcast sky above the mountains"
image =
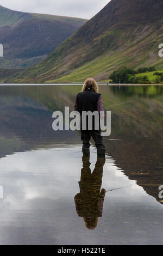
{"type": "Polygon", "coordinates": [[[0,0],[0,5],[27,13],[91,19],[109,2],[110,0],[0,0]]]}

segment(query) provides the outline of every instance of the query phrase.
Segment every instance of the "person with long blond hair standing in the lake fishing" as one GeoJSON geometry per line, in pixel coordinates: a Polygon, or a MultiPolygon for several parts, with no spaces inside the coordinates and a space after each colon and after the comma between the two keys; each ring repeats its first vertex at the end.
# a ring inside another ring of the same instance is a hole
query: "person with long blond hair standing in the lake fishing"
{"type": "MultiPolygon", "coordinates": [[[[78,111],[80,113],[81,118],[81,139],[83,141],[83,154],[90,154],[90,139],[91,137],[95,141],[95,145],[97,148],[97,155],[105,155],[105,146],[103,144],[103,138],[101,136],[101,128],[99,125],[99,129],[95,130],[96,121],[98,120],[92,119],[92,129],[88,129],[86,124],[86,130],[83,129],[82,126],[82,112],[95,112],[98,111],[100,114],[101,111],[104,111],[102,96],[98,93],[98,85],[93,78],[87,78],[84,82],[84,86],[82,89],[82,93],[78,93],[76,96],[76,103],[74,106],[74,111],[78,111]]],[[[88,118],[87,118],[88,123],[88,118]]],[[[100,123],[100,122],[99,122],[100,123]]]]}

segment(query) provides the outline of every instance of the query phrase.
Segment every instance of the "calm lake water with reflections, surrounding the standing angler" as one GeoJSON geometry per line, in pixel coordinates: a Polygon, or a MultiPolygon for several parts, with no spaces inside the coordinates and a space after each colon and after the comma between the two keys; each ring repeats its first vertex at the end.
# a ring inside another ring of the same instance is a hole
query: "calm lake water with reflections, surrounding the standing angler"
{"type": "Polygon", "coordinates": [[[0,87],[0,244],[162,245],[163,87],[100,86],[105,159],[93,143],[83,157],[79,132],[52,130],[80,90],[0,87]]]}

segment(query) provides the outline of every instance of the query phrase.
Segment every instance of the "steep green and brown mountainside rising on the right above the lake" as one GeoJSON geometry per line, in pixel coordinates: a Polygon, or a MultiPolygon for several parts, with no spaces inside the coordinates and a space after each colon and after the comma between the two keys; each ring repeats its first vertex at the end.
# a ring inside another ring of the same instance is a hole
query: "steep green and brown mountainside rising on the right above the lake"
{"type": "Polygon", "coordinates": [[[108,78],[121,65],[163,68],[162,0],[112,0],[41,63],[15,81],[83,81],[108,78]]]}

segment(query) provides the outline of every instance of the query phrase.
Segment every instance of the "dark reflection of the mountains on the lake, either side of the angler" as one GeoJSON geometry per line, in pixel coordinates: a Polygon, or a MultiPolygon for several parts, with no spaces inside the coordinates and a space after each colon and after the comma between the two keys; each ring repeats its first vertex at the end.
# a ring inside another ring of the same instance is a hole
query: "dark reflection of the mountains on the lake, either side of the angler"
{"type": "MultiPolygon", "coordinates": [[[[2,86],[0,88],[0,158],[33,149],[77,145],[80,135],[52,130],[52,112],[73,109],[80,86],[2,86]]],[[[162,86],[101,86],[105,110],[111,111],[106,153],[130,180],[158,200],[162,172],[162,86]],[[127,102],[127,103],[126,103],[127,102]],[[130,102],[130,103],[129,103],[130,102]],[[131,103],[135,102],[135,103],[131,103]]]]}

